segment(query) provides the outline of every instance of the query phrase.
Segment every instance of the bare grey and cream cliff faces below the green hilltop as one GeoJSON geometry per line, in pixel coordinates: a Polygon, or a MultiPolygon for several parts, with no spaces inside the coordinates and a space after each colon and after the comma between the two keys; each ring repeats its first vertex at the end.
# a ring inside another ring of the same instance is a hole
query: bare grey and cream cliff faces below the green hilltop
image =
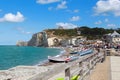
{"type": "Polygon", "coordinates": [[[79,38],[68,38],[66,36],[58,36],[53,31],[44,30],[43,32],[33,34],[32,38],[28,42],[18,42],[19,46],[37,46],[37,47],[57,47],[67,46],[69,44],[76,44],[76,40],[79,38]]]}

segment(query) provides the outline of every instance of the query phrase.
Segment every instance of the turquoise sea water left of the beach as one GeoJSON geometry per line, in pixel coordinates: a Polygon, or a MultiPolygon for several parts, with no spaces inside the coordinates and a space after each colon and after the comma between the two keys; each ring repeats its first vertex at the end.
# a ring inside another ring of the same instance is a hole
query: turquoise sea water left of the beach
{"type": "Polygon", "coordinates": [[[0,46],[0,70],[18,65],[36,65],[47,60],[47,56],[57,55],[60,49],[43,47],[0,46]]]}

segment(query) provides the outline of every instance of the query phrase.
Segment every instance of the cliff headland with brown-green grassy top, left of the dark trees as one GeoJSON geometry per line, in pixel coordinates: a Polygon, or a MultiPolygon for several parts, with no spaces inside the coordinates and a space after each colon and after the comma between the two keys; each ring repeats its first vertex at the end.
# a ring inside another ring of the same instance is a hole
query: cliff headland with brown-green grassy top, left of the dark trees
{"type": "Polygon", "coordinates": [[[76,29],[49,29],[33,34],[28,42],[18,42],[18,46],[55,47],[70,44],[71,38],[78,36],[76,29]]]}

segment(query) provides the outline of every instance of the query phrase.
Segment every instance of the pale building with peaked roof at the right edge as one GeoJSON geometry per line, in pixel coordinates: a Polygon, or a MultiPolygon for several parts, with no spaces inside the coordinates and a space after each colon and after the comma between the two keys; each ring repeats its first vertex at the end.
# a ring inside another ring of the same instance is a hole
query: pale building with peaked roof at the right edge
{"type": "Polygon", "coordinates": [[[108,43],[120,43],[120,34],[116,31],[104,36],[104,40],[108,43]]]}

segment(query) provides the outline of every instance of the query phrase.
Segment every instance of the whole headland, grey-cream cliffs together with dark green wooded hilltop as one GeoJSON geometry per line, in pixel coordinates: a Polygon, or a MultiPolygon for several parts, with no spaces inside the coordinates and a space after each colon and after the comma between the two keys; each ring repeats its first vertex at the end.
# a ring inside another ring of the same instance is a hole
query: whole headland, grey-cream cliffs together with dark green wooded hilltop
{"type": "Polygon", "coordinates": [[[77,36],[86,37],[88,40],[102,39],[103,35],[112,33],[120,29],[89,28],[87,26],[75,29],[46,29],[42,32],[33,34],[28,42],[18,42],[18,46],[60,46],[67,44],[68,40],[77,36]]]}

